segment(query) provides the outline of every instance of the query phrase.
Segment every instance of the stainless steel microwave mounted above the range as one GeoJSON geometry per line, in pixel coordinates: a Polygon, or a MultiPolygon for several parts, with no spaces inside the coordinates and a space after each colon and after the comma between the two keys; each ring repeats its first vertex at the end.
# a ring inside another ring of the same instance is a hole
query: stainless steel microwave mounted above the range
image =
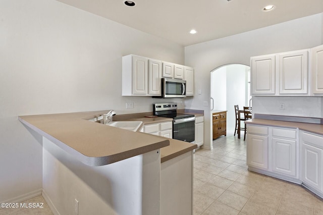
{"type": "Polygon", "coordinates": [[[154,98],[185,98],[186,81],[182,79],[162,78],[161,79],[161,96],[154,98]]]}

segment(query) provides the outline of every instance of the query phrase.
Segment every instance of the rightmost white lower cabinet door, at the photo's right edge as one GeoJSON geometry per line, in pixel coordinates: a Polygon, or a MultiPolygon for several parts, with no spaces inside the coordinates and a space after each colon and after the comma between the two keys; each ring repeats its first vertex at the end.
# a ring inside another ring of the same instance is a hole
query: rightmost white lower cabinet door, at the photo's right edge
{"type": "Polygon", "coordinates": [[[305,184],[322,192],[323,150],[302,143],[302,180],[305,184]]]}

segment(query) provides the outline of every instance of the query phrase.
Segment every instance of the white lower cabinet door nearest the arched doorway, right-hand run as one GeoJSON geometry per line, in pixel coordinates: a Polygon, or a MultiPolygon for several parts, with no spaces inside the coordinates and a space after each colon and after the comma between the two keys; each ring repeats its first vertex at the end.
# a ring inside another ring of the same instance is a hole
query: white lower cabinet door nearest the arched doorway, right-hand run
{"type": "Polygon", "coordinates": [[[247,134],[247,165],[268,170],[268,137],[247,134]]]}

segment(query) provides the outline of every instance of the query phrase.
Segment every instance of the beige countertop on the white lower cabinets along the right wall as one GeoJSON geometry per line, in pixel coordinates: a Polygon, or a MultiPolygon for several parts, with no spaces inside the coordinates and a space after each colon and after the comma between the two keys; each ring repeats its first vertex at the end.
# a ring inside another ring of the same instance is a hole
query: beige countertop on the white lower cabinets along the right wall
{"type": "Polygon", "coordinates": [[[284,128],[298,128],[303,131],[323,135],[323,125],[314,123],[299,123],[299,122],[288,122],[279,120],[263,120],[263,119],[251,119],[244,122],[245,124],[255,124],[264,126],[276,126],[284,128]]]}

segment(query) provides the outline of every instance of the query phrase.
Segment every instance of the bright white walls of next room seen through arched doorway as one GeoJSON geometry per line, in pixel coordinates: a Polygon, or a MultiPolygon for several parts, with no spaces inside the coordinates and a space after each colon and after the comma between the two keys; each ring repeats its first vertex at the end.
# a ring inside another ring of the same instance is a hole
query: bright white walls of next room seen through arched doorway
{"type": "MultiPolygon", "coordinates": [[[[227,131],[234,132],[234,105],[238,104],[239,108],[248,106],[251,98],[250,67],[242,64],[223,65],[211,71],[210,82],[211,115],[218,110],[228,111],[227,131]]],[[[210,123],[212,130],[212,121],[210,123]]]]}

